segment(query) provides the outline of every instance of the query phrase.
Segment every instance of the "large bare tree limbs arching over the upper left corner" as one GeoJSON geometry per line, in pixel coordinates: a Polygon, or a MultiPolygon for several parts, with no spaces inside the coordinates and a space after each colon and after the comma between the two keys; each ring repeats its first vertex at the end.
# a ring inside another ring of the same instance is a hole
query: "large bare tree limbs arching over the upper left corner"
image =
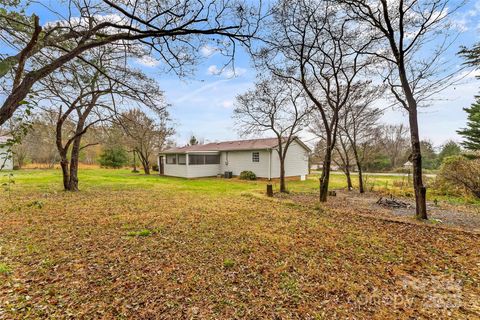
{"type": "MultiPolygon", "coordinates": [[[[24,14],[25,5],[1,0],[0,79],[5,99],[0,126],[22,106],[32,87],[66,63],[82,60],[93,48],[121,46],[137,57],[163,60],[184,74],[199,58],[199,48],[213,42],[232,58],[237,43],[247,44],[257,28],[260,8],[237,1],[68,0],[49,7],[37,3],[57,22],[40,25],[24,14]],[[8,5],[8,6],[7,6],[8,5]],[[60,12],[67,12],[66,16],[60,12]],[[12,53],[13,52],[13,53],[12,53]],[[42,58],[42,64],[34,63],[42,58]]],[[[131,57],[125,55],[124,63],[131,57]]]]}

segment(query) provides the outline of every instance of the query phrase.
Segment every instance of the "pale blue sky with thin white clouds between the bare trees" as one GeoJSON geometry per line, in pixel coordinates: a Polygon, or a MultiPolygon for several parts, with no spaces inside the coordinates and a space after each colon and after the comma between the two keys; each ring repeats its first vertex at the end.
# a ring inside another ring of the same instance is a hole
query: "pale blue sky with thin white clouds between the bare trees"
{"type": "MultiPolygon", "coordinates": [[[[52,0],[45,2],[55,3],[52,0]]],[[[49,19],[48,16],[42,17],[41,10],[39,15],[43,21],[49,19]]],[[[443,58],[460,65],[462,61],[456,55],[458,48],[480,41],[480,0],[468,1],[454,13],[453,19],[453,28],[459,32],[459,37],[453,49],[443,58]]],[[[242,138],[233,127],[232,114],[235,97],[252,88],[257,76],[248,54],[243,50],[237,51],[235,71],[232,67],[221,70],[225,57],[214,47],[202,47],[200,55],[202,59],[196,66],[195,74],[187,78],[161,71],[161,62],[154,59],[137,59],[132,63],[155,78],[164,90],[171,104],[170,114],[177,132],[174,140],[178,145],[186,144],[192,135],[205,142],[242,138]]],[[[462,108],[468,107],[480,91],[480,80],[475,78],[475,74],[463,75],[461,83],[449,87],[437,95],[429,107],[419,111],[421,139],[431,140],[436,146],[449,139],[461,139],[456,130],[466,123],[466,113],[462,108]]],[[[378,106],[385,105],[387,102],[383,101],[378,106]]],[[[406,113],[398,108],[387,110],[381,120],[391,124],[408,124],[406,113]]],[[[308,133],[304,133],[302,138],[307,142],[312,140],[308,133]]]]}

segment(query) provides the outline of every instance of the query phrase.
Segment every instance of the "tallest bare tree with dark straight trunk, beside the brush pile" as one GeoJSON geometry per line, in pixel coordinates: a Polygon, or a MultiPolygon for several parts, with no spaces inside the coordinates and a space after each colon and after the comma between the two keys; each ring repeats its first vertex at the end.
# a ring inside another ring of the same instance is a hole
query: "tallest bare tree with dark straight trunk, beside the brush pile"
{"type": "Polygon", "coordinates": [[[451,70],[455,67],[446,65],[441,57],[452,43],[447,33],[451,30],[448,17],[458,7],[449,7],[448,0],[341,2],[349,15],[362,24],[359,30],[378,40],[378,46],[365,53],[383,62],[385,82],[408,112],[416,216],[427,219],[417,110],[422,102],[451,84],[451,70]],[[422,50],[427,46],[434,48],[430,55],[422,50]]]}

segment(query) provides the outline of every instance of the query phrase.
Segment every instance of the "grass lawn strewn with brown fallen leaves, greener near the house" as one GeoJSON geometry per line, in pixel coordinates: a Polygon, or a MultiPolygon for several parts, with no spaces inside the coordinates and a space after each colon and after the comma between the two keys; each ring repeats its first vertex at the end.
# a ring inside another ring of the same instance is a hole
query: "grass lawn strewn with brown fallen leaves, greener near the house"
{"type": "Polygon", "coordinates": [[[89,169],[65,193],[58,170],[14,174],[0,319],[480,318],[478,235],[268,199],[265,181],[89,169]]]}

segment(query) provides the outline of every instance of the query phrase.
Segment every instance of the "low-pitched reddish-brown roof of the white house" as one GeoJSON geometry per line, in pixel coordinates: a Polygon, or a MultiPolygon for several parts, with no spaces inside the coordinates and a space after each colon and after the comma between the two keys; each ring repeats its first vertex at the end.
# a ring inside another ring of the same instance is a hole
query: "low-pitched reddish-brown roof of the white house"
{"type": "MultiPolygon", "coordinates": [[[[305,149],[310,151],[303,142],[296,139],[305,149]]],[[[219,152],[219,151],[237,151],[237,150],[262,150],[272,149],[278,146],[277,138],[250,139],[212,142],[207,144],[197,144],[180,148],[171,148],[162,153],[188,153],[188,152],[219,152]]]]}

